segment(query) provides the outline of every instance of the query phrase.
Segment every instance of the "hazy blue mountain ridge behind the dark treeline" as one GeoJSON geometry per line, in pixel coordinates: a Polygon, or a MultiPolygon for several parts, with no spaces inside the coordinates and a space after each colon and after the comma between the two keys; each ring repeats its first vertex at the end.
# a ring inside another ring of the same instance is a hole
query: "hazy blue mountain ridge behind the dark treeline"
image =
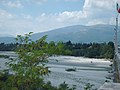
{"type": "MultiPolygon", "coordinates": [[[[74,25],[32,35],[33,40],[48,35],[47,41],[108,42],[114,40],[114,25],[74,25]]],[[[120,40],[120,39],[118,39],[120,40]]],[[[14,42],[14,37],[0,37],[0,43],[14,42]]]]}

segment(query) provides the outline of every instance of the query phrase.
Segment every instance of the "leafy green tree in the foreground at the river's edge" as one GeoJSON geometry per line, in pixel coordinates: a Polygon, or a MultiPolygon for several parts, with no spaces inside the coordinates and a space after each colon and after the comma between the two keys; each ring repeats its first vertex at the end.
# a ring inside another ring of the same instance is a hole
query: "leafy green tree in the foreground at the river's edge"
{"type": "MultiPolygon", "coordinates": [[[[50,71],[46,67],[48,57],[52,54],[59,54],[62,50],[62,44],[47,43],[47,36],[43,36],[37,41],[30,39],[32,32],[24,36],[18,35],[18,47],[16,54],[18,58],[10,59],[7,63],[10,70],[14,73],[9,77],[8,87],[16,88],[15,90],[36,90],[45,87],[43,76],[50,71]]],[[[11,89],[12,90],[12,89],[11,89]]]]}

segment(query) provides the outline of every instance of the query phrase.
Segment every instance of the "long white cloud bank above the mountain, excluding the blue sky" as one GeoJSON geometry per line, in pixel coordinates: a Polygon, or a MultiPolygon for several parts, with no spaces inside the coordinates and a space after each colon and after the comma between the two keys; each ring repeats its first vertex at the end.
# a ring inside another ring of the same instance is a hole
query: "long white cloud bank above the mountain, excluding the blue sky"
{"type": "MultiPolygon", "coordinates": [[[[30,1],[37,4],[47,2],[47,0],[30,1]]],[[[15,15],[0,9],[0,30],[3,31],[0,34],[9,34],[10,32],[17,35],[30,31],[37,33],[76,24],[114,24],[115,12],[115,3],[112,0],[85,0],[83,10],[54,14],[42,13],[37,17],[25,13],[15,15]]]]}

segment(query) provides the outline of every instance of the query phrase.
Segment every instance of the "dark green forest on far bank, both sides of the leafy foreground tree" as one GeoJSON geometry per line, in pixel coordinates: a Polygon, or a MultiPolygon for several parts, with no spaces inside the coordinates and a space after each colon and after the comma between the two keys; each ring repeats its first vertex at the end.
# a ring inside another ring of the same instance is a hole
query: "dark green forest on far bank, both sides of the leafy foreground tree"
{"type": "MultiPolygon", "coordinates": [[[[55,46],[55,42],[50,42],[55,46]]],[[[88,58],[106,58],[112,59],[114,57],[114,43],[72,43],[71,41],[62,42],[62,55],[83,56],[88,58]]],[[[18,43],[0,43],[0,51],[14,51],[18,43]]]]}

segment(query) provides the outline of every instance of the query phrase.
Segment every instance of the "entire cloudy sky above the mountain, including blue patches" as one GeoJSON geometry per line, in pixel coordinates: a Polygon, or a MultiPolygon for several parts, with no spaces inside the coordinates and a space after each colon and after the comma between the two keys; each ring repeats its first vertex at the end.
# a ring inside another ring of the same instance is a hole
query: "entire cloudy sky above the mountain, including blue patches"
{"type": "Polygon", "coordinates": [[[114,24],[120,0],[0,0],[0,36],[114,24]]]}

